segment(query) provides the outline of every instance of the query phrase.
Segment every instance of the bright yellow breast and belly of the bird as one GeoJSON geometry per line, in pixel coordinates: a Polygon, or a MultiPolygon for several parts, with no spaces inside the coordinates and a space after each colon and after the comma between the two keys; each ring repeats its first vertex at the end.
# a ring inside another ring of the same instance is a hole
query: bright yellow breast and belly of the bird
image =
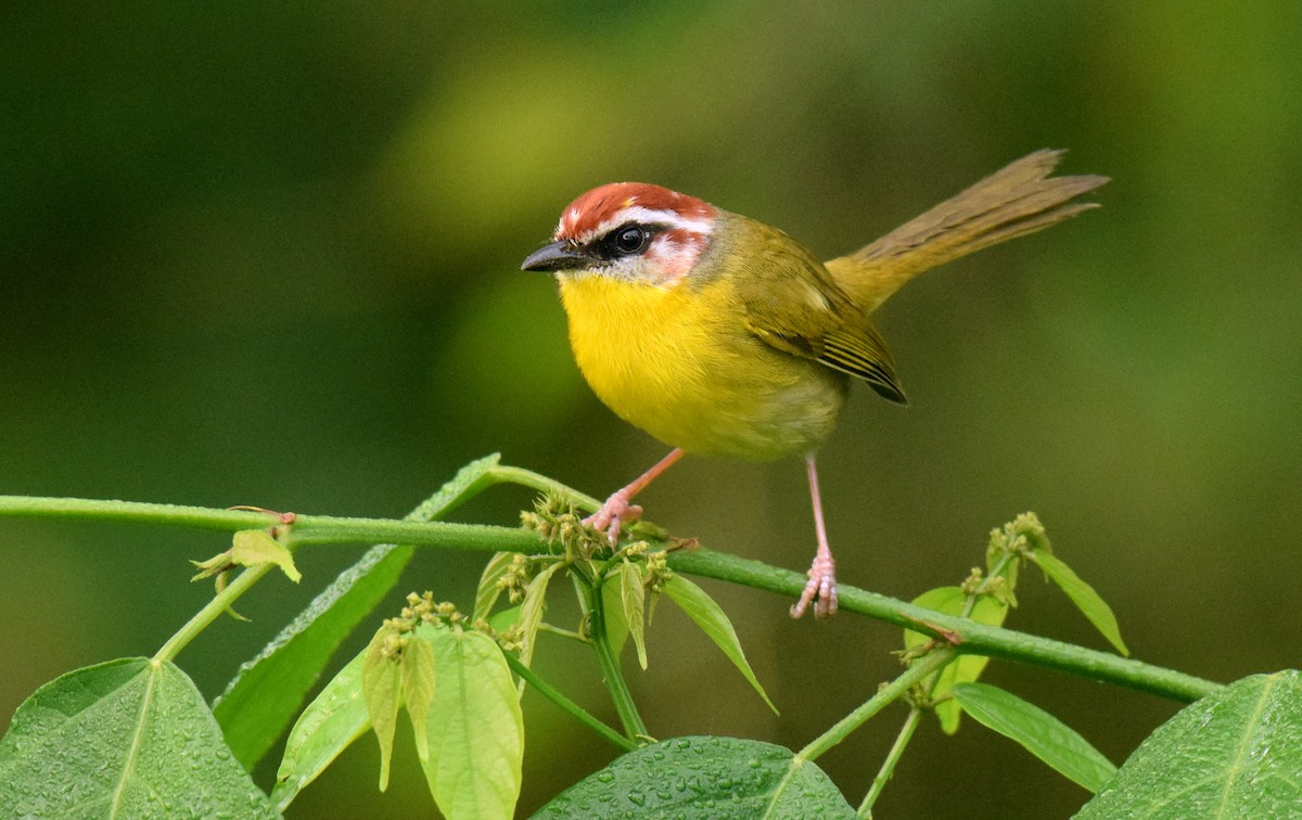
{"type": "Polygon", "coordinates": [[[754,461],[814,450],[848,379],[745,331],[727,281],[656,286],[565,276],[583,377],[622,419],[689,453],[754,461]]]}

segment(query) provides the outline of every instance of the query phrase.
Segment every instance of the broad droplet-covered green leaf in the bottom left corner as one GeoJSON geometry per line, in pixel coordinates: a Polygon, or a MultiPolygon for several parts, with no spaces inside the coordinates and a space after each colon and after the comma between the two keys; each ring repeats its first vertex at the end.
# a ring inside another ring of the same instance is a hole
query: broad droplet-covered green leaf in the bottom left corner
{"type": "Polygon", "coordinates": [[[276,817],[189,677],[143,657],[69,672],[0,739],[0,817],[276,817]]]}

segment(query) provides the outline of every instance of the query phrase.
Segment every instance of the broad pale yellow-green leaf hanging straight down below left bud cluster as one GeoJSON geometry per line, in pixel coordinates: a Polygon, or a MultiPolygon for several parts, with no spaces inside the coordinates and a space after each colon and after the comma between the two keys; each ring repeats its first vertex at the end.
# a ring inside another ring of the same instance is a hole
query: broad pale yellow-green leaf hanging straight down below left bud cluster
{"type": "Polygon", "coordinates": [[[506,660],[483,633],[421,626],[439,669],[426,718],[430,794],[449,820],[510,817],[519,798],[525,724],[506,660]]]}

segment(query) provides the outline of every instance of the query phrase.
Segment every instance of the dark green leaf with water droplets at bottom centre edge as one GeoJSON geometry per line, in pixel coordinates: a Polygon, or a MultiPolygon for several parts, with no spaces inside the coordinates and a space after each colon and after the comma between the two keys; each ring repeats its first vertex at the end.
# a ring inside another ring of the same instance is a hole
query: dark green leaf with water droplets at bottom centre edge
{"type": "Polygon", "coordinates": [[[760,741],[686,737],[629,752],[535,817],[854,817],[818,765],[760,741]]]}

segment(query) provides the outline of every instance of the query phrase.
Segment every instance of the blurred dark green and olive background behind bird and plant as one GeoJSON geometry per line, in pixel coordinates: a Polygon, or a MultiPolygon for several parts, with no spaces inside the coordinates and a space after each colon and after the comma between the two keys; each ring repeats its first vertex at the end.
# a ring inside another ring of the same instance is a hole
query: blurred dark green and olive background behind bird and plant
{"type": "MultiPolygon", "coordinates": [[[[501,450],[604,495],[665,448],[591,396],[553,282],[518,271],[573,197],[654,181],[829,258],[1069,147],[1068,173],[1113,177],[1104,208],[885,307],[913,403],[857,389],[822,456],[838,574],[905,599],[956,583],[1031,509],[1138,657],[1219,681],[1297,666],[1299,35],[1288,0],[10,5],[0,493],[401,515],[501,450]]],[[[811,556],[794,459],[687,459],[644,500],[711,547],[811,556]]],[[[527,504],[495,491],[461,517],[527,504]]],[[[185,560],[219,549],[0,522],[0,726],[62,672],[152,653],[211,595],[185,560]]],[[[302,554],[299,587],[268,578],[241,603],[253,622],[219,622],[181,665],[217,694],[359,552],[302,554]]],[[[421,554],[404,591],[466,604],[480,565],[421,554]]],[[[799,747],[897,672],[894,629],[708,588],[783,715],[660,608],[631,673],[660,737],[799,747]]],[[[1103,646],[1035,574],[1021,600],[1012,626],[1103,646]]],[[[538,665],[613,720],[586,653],[544,643],[538,665]]],[[[988,678],[1118,763],[1177,708],[1008,663],[988,678]]],[[[526,715],[522,811],[613,756],[533,694],[526,715]]],[[[852,802],[902,718],[820,761],[852,802]]],[[[293,813],[432,811],[410,756],[383,797],[376,763],[363,739],[293,813]]],[[[879,812],[1085,798],[980,726],[928,724],[879,812]]]]}

